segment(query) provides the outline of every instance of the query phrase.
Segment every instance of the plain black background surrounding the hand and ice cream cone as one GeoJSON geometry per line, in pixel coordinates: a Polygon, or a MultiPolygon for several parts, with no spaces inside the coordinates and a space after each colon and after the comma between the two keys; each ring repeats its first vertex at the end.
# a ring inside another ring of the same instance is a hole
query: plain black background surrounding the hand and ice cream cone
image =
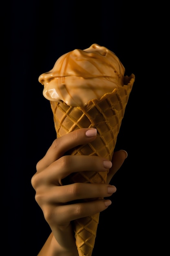
{"type": "Polygon", "coordinates": [[[151,239],[159,237],[153,210],[158,203],[155,196],[157,200],[159,196],[157,186],[150,188],[155,176],[153,157],[157,156],[153,152],[159,151],[154,146],[157,132],[152,106],[156,99],[152,87],[161,66],[155,52],[160,51],[157,40],[164,33],[162,12],[159,6],[141,1],[6,3],[2,11],[7,86],[3,85],[2,91],[3,198],[9,243],[5,255],[36,256],[50,233],[31,186],[36,163],[56,137],[50,104],[42,96],[38,77],[51,70],[62,54],[93,43],[115,52],[125,74],[135,74],[116,145],[116,149],[128,152],[128,158],[112,180],[117,192],[112,205],[100,214],[93,256],[145,255],[146,251],[163,250],[151,239]]]}

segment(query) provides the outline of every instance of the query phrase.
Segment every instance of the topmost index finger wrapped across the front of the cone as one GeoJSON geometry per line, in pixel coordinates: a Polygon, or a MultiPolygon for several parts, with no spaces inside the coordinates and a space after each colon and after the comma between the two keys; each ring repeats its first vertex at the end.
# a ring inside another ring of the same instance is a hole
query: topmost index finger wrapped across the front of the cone
{"type": "Polygon", "coordinates": [[[46,155],[38,162],[37,170],[41,171],[46,168],[71,148],[81,144],[88,144],[96,138],[96,135],[97,130],[95,128],[82,128],[55,139],[46,155]]]}

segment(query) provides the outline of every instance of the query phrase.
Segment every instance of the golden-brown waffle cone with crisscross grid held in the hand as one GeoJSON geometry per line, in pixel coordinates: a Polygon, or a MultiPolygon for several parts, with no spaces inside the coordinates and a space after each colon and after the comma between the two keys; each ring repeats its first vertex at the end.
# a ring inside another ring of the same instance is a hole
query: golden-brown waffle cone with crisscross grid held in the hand
{"type": "MultiPolygon", "coordinates": [[[[117,135],[135,76],[124,77],[124,86],[101,99],[93,99],[85,107],[71,107],[64,102],[51,101],[57,137],[79,128],[96,128],[97,138],[89,144],[70,150],[71,155],[98,155],[111,161],[117,135]]],[[[106,183],[106,172],[84,171],[69,176],[69,183],[106,183]]],[[[99,213],[73,221],[79,256],[91,256],[95,244],[99,213]]]]}

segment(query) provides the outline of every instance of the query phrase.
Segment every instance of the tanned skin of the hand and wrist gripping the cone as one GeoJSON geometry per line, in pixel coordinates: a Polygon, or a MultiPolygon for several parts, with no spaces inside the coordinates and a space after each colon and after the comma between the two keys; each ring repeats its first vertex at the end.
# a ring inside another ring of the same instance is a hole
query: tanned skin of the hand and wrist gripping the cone
{"type": "Polygon", "coordinates": [[[75,183],[62,185],[62,179],[73,172],[108,171],[104,158],[98,156],[64,156],[69,149],[93,141],[96,136],[87,137],[82,128],[53,141],[46,155],[37,163],[37,172],[31,179],[35,189],[35,200],[41,207],[44,218],[51,227],[51,234],[38,256],[78,256],[71,221],[104,211],[110,200],[93,200],[75,203],[84,198],[105,198],[115,193],[115,186],[109,185],[127,154],[124,150],[114,153],[109,169],[107,184],[75,183]],[[112,191],[108,193],[108,187],[112,191]],[[67,239],[66,239],[67,238],[67,239]],[[69,239],[68,239],[69,238],[69,239]]]}

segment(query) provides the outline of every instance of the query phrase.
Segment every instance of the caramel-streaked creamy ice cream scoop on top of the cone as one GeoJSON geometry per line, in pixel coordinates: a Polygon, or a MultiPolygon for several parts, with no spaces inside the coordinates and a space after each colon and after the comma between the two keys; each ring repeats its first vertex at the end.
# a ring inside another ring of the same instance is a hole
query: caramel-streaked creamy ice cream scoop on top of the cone
{"type": "Polygon", "coordinates": [[[49,72],[39,77],[43,95],[69,106],[86,106],[114,88],[124,86],[125,68],[106,47],[93,44],[62,55],[49,72]]]}

